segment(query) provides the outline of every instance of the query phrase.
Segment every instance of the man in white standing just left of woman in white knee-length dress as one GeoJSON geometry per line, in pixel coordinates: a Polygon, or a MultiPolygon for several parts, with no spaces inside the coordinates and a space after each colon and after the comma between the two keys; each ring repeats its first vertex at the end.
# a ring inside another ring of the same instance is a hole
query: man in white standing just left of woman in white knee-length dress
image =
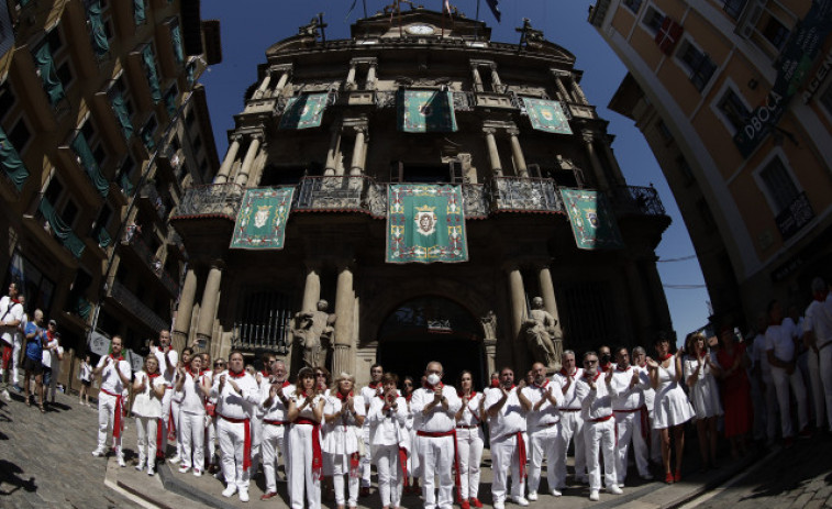
{"type": "Polygon", "coordinates": [[[650,375],[646,370],[630,365],[630,354],[626,348],[615,350],[615,368],[612,370],[611,381],[613,394],[612,414],[615,418],[617,456],[615,475],[618,487],[624,486],[626,477],[626,456],[630,443],[633,444],[633,456],[639,475],[650,480],[650,461],[647,460],[647,438],[650,422],[644,388],[650,386],[650,375]]]}

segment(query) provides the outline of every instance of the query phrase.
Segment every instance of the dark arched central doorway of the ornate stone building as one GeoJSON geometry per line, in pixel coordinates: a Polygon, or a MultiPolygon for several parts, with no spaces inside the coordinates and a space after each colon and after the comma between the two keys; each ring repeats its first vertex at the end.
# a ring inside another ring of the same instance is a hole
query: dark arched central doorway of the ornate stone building
{"type": "Polygon", "coordinates": [[[456,386],[464,369],[474,375],[474,386],[486,381],[482,325],[465,308],[444,297],[424,296],[399,305],[381,323],[378,363],[386,372],[420,383],[424,368],[439,361],[444,380],[456,386]]]}

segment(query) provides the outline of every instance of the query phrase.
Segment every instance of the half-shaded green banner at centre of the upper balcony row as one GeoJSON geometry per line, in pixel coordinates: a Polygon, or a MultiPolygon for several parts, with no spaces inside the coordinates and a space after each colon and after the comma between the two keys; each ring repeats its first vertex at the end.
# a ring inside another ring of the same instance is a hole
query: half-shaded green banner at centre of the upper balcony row
{"type": "Polygon", "coordinates": [[[443,90],[404,90],[399,95],[399,130],[451,133],[457,130],[454,98],[443,90]]]}

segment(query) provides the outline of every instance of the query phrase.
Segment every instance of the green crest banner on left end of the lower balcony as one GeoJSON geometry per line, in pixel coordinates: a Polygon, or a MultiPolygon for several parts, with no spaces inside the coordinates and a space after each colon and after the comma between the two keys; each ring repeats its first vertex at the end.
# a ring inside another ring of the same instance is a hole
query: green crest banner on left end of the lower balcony
{"type": "Polygon", "coordinates": [[[282,250],[293,193],[293,187],[246,189],[231,247],[282,250]]]}

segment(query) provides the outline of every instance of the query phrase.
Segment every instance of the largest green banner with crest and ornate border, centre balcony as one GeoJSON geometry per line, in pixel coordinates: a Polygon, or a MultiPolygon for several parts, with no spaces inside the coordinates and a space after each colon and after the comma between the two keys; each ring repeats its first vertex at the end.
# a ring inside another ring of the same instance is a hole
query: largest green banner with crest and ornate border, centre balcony
{"type": "Polygon", "coordinates": [[[391,184],[387,193],[387,263],[468,261],[462,186],[391,184]]]}

